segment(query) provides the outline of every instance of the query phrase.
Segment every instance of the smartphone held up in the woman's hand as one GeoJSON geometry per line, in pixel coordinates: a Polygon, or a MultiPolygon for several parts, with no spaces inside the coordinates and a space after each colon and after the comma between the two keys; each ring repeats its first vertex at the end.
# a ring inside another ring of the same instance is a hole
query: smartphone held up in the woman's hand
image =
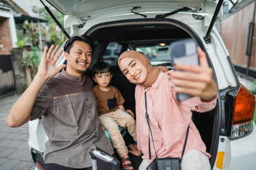
{"type": "MultiPolygon", "coordinates": [[[[170,51],[171,51],[171,60],[173,64],[190,64],[193,66],[199,65],[198,54],[196,50],[196,42],[195,40],[183,39],[180,41],[173,41],[170,44],[170,51]]],[[[179,94],[177,93],[177,99],[179,101],[184,101],[188,99],[188,94],[179,94]]]]}

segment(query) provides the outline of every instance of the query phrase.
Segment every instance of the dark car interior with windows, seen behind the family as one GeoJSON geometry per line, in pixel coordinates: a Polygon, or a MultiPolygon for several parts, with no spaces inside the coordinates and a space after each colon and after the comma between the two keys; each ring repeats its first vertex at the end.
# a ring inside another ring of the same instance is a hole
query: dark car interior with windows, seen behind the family
{"type": "MultiPolygon", "coordinates": [[[[92,78],[92,66],[98,61],[104,61],[111,64],[113,69],[113,78],[111,85],[120,90],[125,99],[125,109],[131,109],[135,112],[134,90],[136,85],[130,83],[121,73],[117,58],[125,50],[137,50],[143,52],[152,66],[166,66],[172,69],[170,59],[169,45],[172,41],[186,38],[194,38],[198,46],[204,50],[204,46],[200,43],[199,38],[193,33],[188,26],[175,22],[166,22],[166,20],[125,20],[120,22],[106,22],[95,25],[84,34],[93,39],[94,52],[92,64],[86,74],[92,78]],[[116,46],[116,48],[115,48],[116,46]],[[109,57],[109,52],[106,50],[114,50],[115,55],[109,57]],[[106,54],[108,53],[108,57],[106,54]],[[166,57],[167,56],[167,57],[166,57]],[[163,58],[164,59],[163,59],[163,58]],[[112,60],[109,62],[109,60],[112,60]]],[[[211,64],[210,64],[211,65],[211,64]]],[[[214,145],[212,143],[212,131],[214,130],[214,120],[216,118],[216,108],[207,113],[197,113],[193,111],[193,122],[195,123],[200,135],[207,147],[207,152],[212,154],[214,145]]],[[[145,127],[148,128],[148,127],[145,127]]],[[[124,137],[126,144],[133,143],[129,133],[124,137]]],[[[134,169],[138,169],[140,165],[140,157],[131,156],[134,169]]],[[[210,160],[211,161],[211,160],[210,160]]]]}

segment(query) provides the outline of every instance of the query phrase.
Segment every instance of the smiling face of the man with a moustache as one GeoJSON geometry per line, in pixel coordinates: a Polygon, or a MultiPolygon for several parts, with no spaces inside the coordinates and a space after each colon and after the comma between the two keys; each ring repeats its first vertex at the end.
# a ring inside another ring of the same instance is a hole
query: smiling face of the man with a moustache
{"type": "Polygon", "coordinates": [[[65,52],[67,60],[66,71],[74,76],[83,74],[92,61],[92,48],[83,41],[74,41],[69,53],[65,52]]]}

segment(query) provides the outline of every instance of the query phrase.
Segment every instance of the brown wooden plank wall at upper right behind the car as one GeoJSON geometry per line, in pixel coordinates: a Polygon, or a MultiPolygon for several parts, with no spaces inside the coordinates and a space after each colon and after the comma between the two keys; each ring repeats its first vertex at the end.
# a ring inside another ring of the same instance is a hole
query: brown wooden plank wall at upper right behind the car
{"type": "MultiPolygon", "coordinates": [[[[249,24],[253,20],[255,3],[250,3],[240,10],[221,20],[221,37],[227,46],[230,59],[234,64],[247,66],[246,44],[248,39],[249,24]]],[[[255,17],[256,20],[256,17],[255,17]]],[[[254,21],[255,23],[255,21],[254,21]]],[[[255,24],[254,24],[255,25],[255,24]]],[[[254,26],[254,34],[256,25],[254,26]]],[[[255,38],[252,41],[250,67],[256,69],[255,38]]]]}

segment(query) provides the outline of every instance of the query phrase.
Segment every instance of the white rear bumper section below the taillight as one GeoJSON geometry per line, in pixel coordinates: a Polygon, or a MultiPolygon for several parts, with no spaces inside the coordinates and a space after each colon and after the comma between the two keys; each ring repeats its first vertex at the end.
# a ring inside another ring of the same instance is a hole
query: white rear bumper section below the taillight
{"type": "MultiPolygon", "coordinates": [[[[225,136],[220,136],[218,152],[224,152],[222,169],[232,170],[255,170],[256,169],[256,126],[248,136],[230,141],[225,136]],[[223,138],[223,139],[221,139],[223,138]],[[223,142],[221,142],[223,141],[223,142]]],[[[216,160],[217,161],[217,160],[216,160]]],[[[216,167],[214,170],[220,169],[216,167]]]]}

